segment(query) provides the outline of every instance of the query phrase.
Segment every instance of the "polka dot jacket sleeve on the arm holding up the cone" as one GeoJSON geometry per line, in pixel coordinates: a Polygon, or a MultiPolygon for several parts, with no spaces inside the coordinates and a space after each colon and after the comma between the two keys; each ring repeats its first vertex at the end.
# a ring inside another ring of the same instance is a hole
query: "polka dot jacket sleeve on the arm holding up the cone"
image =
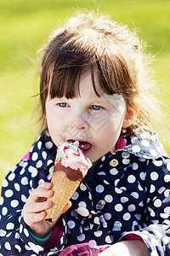
{"type": "Polygon", "coordinates": [[[0,255],[42,255],[23,219],[22,208],[31,192],[28,160],[21,160],[3,180],[0,199],[0,255]]]}

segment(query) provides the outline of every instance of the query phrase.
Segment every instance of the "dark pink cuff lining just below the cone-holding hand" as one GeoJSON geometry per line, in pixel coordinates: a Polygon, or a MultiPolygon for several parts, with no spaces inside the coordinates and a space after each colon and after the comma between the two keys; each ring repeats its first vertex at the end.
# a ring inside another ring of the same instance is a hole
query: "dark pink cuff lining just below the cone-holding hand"
{"type": "Polygon", "coordinates": [[[59,239],[62,236],[61,224],[57,222],[54,225],[53,233],[50,236],[48,242],[45,245],[45,252],[48,252],[49,249],[55,247],[59,243],[59,239]]]}

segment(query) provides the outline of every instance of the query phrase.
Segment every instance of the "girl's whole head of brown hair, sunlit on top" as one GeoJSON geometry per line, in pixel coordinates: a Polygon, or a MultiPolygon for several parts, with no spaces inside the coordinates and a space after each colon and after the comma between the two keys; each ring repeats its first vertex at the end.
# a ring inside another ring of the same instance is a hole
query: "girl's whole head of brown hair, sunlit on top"
{"type": "Polygon", "coordinates": [[[122,94],[127,108],[133,102],[141,102],[134,127],[148,125],[150,107],[142,88],[145,79],[146,60],[139,39],[127,26],[94,13],[71,17],[65,26],[54,31],[48,44],[43,48],[42,73],[40,80],[40,101],[42,123],[46,124],[45,102],[51,98],[75,97],[75,88],[84,70],[91,70],[94,90],[94,72],[98,74],[102,92],[122,94]]]}

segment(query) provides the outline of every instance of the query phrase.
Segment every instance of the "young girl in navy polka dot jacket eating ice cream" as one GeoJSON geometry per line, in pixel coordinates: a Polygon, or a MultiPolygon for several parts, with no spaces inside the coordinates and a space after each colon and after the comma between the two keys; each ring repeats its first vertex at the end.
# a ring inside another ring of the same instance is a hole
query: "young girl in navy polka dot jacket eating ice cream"
{"type": "Polygon", "coordinates": [[[3,180],[0,255],[170,255],[170,159],[145,126],[144,77],[126,26],[82,14],[54,32],[42,56],[44,129],[3,180]],[[49,224],[56,148],[76,140],[93,166],[49,224]]]}

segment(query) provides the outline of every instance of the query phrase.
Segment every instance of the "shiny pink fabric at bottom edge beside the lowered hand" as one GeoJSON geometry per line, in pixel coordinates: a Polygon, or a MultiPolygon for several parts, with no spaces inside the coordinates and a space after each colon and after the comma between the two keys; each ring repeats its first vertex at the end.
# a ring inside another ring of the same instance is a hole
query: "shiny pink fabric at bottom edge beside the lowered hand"
{"type": "Polygon", "coordinates": [[[59,256],[97,256],[108,247],[111,247],[111,245],[97,246],[94,242],[85,242],[66,247],[61,253],[59,253],[59,256]]]}

